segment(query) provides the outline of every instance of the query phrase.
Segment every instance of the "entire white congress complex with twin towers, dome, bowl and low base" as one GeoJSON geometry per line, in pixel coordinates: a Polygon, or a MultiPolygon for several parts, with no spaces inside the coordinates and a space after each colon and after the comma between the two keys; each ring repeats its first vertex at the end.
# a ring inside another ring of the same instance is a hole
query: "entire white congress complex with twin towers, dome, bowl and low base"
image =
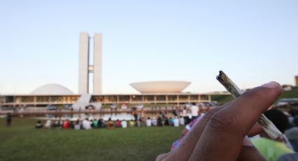
{"type": "Polygon", "coordinates": [[[184,93],[186,81],[156,81],[131,83],[140,94],[102,94],[102,34],[81,33],[79,40],[79,92],[75,94],[67,87],[47,84],[30,94],[6,94],[0,96],[0,106],[44,107],[48,104],[62,106],[74,104],[82,94],[91,94],[90,102],[111,104],[175,104],[210,102],[210,94],[184,93]],[[89,64],[90,41],[93,40],[93,64],[89,64]],[[89,90],[89,73],[93,73],[93,93],[89,90]]]}

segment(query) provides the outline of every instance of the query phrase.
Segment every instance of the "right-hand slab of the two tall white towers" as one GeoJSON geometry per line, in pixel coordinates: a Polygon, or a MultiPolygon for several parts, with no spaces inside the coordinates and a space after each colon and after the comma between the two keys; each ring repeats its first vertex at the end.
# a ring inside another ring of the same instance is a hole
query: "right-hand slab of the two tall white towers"
{"type": "Polygon", "coordinates": [[[93,94],[102,94],[102,34],[94,34],[93,94]]]}

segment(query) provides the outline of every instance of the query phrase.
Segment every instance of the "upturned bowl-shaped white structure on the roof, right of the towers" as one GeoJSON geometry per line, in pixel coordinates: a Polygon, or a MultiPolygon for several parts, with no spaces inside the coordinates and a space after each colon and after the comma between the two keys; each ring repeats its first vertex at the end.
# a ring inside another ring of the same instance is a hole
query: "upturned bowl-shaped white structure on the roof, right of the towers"
{"type": "Polygon", "coordinates": [[[141,93],[177,93],[190,84],[187,81],[152,81],[131,83],[130,86],[141,93]]]}

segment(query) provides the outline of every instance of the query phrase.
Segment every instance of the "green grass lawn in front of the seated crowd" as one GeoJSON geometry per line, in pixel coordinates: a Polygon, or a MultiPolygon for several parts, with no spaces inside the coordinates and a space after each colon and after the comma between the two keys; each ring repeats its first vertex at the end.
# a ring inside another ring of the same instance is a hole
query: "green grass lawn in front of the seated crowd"
{"type": "Polygon", "coordinates": [[[184,127],[36,130],[36,120],[0,119],[0,160],[154,160],[184,127]]]}

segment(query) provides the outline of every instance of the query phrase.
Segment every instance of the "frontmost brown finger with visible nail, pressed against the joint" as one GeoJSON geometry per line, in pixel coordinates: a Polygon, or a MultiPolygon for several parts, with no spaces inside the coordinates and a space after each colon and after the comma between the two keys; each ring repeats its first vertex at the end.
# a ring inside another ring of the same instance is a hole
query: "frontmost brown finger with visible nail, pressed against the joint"
{"type": "Polygon", "coordinates": [[[190,160],[236,160],[243,138],[281,92],[278,83],[267,83],[245,92],[215,113],[201,134],[190,160]]]}

